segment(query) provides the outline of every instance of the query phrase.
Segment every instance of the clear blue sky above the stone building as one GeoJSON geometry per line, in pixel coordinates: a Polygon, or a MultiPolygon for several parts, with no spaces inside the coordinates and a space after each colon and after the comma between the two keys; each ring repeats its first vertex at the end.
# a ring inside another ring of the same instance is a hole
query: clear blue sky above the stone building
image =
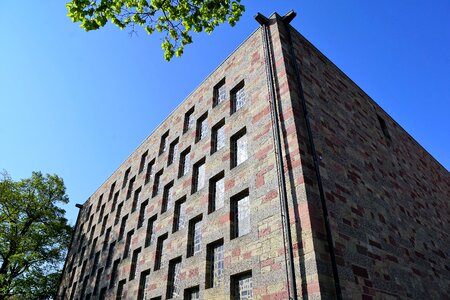
{"type": "Polygon", "coordinates": [[[194,36],[180,59],[159,37],[84,32],[65,1],[0,0],[0,169],[63,177],[78,209],[258,24],[283,15],[447,170],[450,1],[242,0],[243,19],[194,36]]]}

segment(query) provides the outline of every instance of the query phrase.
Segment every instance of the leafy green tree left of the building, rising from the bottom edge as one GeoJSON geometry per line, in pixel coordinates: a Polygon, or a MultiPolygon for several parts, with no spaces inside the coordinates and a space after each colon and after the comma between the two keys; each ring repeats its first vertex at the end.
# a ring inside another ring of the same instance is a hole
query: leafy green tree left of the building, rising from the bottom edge
{"type": "Polygon", "coordinates": [[[51,299],[72,233],[58,207],[69,201],[64,182],[40,172],[0,176],[0,300],[51,299]]]}

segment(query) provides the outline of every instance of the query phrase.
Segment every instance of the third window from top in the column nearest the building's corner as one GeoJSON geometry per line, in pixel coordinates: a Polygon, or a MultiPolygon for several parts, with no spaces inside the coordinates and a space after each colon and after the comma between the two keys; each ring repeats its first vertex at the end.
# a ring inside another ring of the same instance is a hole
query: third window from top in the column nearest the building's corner
{"type": "Polygon", "coordinates": [[[248,190],[233,196],[231,201],[231,238],[237,238],[250,232],[250,199],[248,190]]]}

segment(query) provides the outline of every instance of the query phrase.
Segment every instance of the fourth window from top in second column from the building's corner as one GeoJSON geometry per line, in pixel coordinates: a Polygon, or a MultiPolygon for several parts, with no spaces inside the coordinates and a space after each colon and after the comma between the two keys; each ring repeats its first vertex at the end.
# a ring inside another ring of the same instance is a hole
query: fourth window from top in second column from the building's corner
{"type": "Polygon", "coordinates": [[[224,251],[223,239],[215,241],[206,247],[206,283],[205,288],[220,286],[223,282],[224,251]]]}

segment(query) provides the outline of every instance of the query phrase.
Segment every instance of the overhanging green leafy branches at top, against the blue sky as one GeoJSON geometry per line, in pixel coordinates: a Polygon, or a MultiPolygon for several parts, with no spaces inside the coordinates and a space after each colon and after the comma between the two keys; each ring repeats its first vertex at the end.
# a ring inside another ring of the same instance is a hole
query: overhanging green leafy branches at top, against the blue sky
{"type": "Polygon", "coordinates": [[[192,43],[192,32],[211,33],[218,25],[234,26],[244,12],[241,0],[72,0],[68,16],[81,22],[86,31],[99,29],[108,21],[120,29],[136,25],[148,34],[164,34],[164,58],[181,56],[192,43]]]}

